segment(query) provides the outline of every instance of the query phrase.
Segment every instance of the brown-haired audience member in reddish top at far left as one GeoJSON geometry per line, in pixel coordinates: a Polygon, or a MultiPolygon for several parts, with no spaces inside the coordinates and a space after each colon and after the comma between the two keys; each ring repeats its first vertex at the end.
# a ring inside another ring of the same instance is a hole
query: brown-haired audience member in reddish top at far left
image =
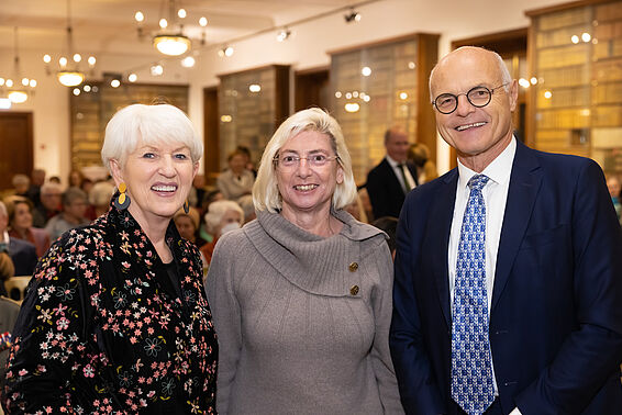
{"type": "Polygon", "coordinates": [[[49,235],[32,225],[33,204],[24,197],[9,197],[4,200],[9,214],[9,236],[27,240],[36,247],[36,256],[43,257],[49,248],[49,235]]]}

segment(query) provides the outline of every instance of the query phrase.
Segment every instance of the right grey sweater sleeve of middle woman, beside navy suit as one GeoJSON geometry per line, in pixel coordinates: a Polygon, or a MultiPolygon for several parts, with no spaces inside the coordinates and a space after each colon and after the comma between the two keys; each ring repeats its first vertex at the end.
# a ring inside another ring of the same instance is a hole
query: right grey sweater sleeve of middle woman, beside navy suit
{"type": "Polygon", "coordinates": [[[384,238],[380,245],[375,246],[373,257],[379,276],[379,285],[371,295],[371,306],[376,325],[374,347],[371,349],[371,363],[380,400],[385,414],[403,414],[398,391],[398,381],[389,351],[389,327],[391,325],[392,287],[393,287],[393,262],[389,247],[384,238]]]}

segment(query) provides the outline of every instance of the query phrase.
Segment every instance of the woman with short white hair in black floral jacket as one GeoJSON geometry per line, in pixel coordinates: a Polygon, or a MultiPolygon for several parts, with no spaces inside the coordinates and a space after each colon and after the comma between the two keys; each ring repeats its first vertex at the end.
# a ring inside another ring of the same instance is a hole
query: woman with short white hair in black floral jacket
{"type": "Polygon", "coordinates": [[[108,123],[113,208],[40,261],[13,332],[9,413],[215,412],[199,250],[171,220],[202,153],[171,105],[130,105],[108,123]]]}

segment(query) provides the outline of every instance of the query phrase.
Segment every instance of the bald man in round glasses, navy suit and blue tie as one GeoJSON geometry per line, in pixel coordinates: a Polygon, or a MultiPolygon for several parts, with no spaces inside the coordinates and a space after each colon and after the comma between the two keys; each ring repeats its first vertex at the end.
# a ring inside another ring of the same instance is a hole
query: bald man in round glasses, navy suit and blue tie
{"type": "Polygon", "coordinates": [[[398,226],[389,343],[407,414],[622,414],[622,236],[601,169],[515,139],[517,81],[492,52],[452,52],[430,92],[458,167],[413,190],[398,226]],[[474,229],[478,257],[463,250],[474,229]],[[454,288],[475,276],[484,300],[464,302],[454,288]],[[465,325],[464,304],[485,324],[465,325]]]}

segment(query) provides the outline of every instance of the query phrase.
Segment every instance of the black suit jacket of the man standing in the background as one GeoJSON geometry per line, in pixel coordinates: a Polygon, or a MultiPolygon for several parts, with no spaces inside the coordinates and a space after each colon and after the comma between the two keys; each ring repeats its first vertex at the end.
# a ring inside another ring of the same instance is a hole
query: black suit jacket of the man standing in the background
{"type": "MultiPolygon", "coordinates": [[[[416,183],[416,168],[410,162],[407,162],[407,167],[416,183]]],[[[369,170],[365,187],[369,194],[375,218],[382,216],[398,217],[400,215],[406,194],[396,171],[386,157],[378,166],[369,170]]]]}

